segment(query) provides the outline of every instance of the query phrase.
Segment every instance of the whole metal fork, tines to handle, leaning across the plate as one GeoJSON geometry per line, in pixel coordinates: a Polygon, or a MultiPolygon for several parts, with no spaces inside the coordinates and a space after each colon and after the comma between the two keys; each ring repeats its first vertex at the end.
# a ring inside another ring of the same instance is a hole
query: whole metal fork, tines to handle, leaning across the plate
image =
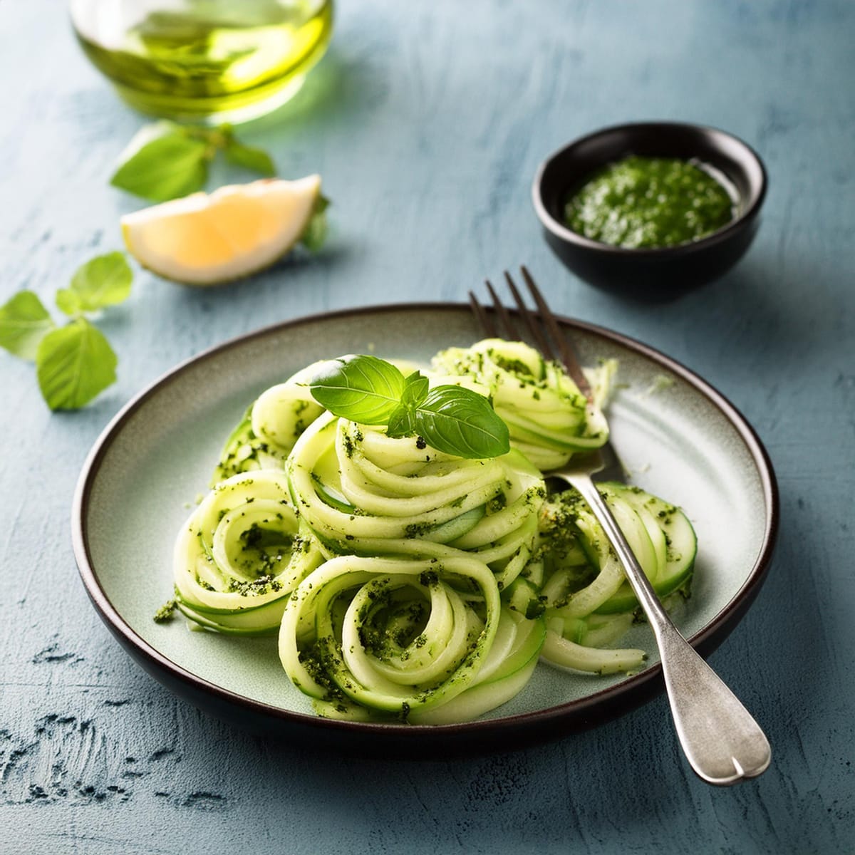
{"type": "MultiPolygon", "coordinates": [[[[514,315],[517,315],[543,356],[563,363],[581,392],[590,399],[591,387],[582,373],[573,345],[562,332],[528,270],[522,268],[522,279],[537,305],[536,313],[528,309],[510,274],[506,272],[504,277],[517,311],[512,314],[507,310],[487,281],[492,312],[469,292],[469,303],[481,328],[491,337],[518,339],[514,322],[514,315]]],[[[609,506],[592,481],[592,475],[597,475],[601,481],[625,480],[610,444],[603,451],[574,456],[562,469],[545,475],[562,479],[581,493],[620,559],[656,637],[677,737],[694,771],[704,781],[722,786],[760,775],[771,759],[769,740],[740,700],[683,638],[660,604],[609,506]],[[608,465],[604,455],[609,458],[608,465]]]]}

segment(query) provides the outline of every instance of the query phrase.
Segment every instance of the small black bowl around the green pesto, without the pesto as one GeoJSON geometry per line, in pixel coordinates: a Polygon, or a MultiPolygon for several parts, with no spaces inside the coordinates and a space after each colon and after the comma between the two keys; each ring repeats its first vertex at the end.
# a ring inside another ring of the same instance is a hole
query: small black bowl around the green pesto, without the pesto
{"type": "Polygon", "coordinates": [[[716,279],[751,245],[766,195],[766,170],[740,139],[711,127],[642,122],[588,134],[548,157],[532,187],[534,209],[557,256],[593,286],[638,299],[673,298],[716,279]],[[628,155],[697,159],[733,186],[737,213],[727,226],[691,243],[625,249],[584,238],[563,223],[567,198],[606,164],[628,155]]]}

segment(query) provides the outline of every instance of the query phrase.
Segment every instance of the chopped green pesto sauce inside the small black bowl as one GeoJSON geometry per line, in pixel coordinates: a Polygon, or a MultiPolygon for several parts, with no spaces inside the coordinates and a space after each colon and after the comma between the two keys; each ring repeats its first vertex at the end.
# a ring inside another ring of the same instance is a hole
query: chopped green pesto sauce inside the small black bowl
{"type": "Polygon", "coordinates": [[[627,249],[676,246],[734,218],[734,200],[713,176],[671,157],[631,155],[593,174],[569,197],[564,221],[574,232],[627,249]]]}

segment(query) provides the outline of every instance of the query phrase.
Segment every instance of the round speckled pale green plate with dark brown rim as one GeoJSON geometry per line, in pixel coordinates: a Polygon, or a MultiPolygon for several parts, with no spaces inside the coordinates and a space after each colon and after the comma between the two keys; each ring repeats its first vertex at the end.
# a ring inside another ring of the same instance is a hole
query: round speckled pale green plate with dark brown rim
{"type": "MultiPolygon", "coordinates": [[[[775,541],[778,500],[752,428],[696,374],[616,333],[562,321],[585,363],[620,360],[612,437],[633,480],[680,504],[698,534],[693,596],[676,616],[700,652],[727,636],[758,593],[775,541]]],[[[441,727],[320,719],[286,679],[275,639],[188,633],[152,615],[172,590],[175,535],[206,491],[246,406],[304,365],[374,352],[427,363],[479,339],[469,309],[410,304],[316,315],[268,327],[183,363],[134,398],[104,430],[74,498],[74,552],[93,604],[150,674],[214,715],[299,743],[387,756],[488,751],[557,738],[622,714],[662,690],[646,626],[627,646],[650,652],[631,677],[540,664],[528,687],[476,722],[441,727]],[[512,743],[512,744],[513,744],[512,743]]],[[[622,642],[623,645],[623,642],[622,642]]]]}

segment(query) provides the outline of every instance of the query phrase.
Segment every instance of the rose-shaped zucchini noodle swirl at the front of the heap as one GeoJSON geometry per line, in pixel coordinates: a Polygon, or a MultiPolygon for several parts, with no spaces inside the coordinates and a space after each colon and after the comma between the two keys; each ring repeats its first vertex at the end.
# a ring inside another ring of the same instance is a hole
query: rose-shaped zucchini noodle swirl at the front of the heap
{"type": "Polygon", "coordinates": [[[339,556],[292,596],[280,658],[324,715],[438,723],[452,700],[472,717],[519,691],[498,678],[530,674],[543,640],[522,622],[475,557],[339,556]]]}

